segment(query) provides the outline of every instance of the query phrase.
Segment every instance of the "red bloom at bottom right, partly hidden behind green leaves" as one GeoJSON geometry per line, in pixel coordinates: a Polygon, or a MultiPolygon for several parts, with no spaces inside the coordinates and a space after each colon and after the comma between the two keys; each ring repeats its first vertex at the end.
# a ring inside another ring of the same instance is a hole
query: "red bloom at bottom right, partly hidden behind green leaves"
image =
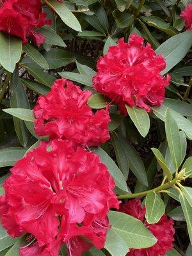
{"type": "Polygon", "coordinates": [[[138,220],[145,221],[148,230],[157,238],[157,243],[150,248],[145,249],[131,249],[127,256],[164,256],[168,250],[172,250],[175,229],[173,228],[174,221],[168,220],[164,214],[158,223],[148,224],[145,220],[145,206],[141,207],[141,200],[130,200],[126,204],[120,205],[119,211],[124,212],[138,218],[138,220]]]}

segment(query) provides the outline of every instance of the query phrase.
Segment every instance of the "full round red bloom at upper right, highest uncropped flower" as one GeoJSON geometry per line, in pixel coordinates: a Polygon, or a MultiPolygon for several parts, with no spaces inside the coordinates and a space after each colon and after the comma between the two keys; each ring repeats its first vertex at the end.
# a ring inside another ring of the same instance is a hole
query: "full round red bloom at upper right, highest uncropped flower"
{"type": "Polygon", "coordinates": [[[129,44],[124,38],[97,62],[93,87],[108,96],[127,115],[125,103],[150,111],[150,106],[161,106],[170,76],[160,72],[166,67],[163,56],[157,55],[143,38],[132,34],[129,44]]]}

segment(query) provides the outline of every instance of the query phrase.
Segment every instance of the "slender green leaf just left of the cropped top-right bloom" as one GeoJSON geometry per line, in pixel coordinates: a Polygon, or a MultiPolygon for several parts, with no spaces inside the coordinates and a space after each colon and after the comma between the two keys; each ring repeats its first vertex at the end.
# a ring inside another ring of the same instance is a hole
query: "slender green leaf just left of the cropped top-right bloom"
{"type": "Polygon", "coordinates": [[[173,28],[172,26],[170,26],[169,23],[166,23],[163,19],[156,17],[156,16],[142,16],[141,17],[142,20],[144,20],[145,22],[147,22],[147,24],[149,26],[152,26],[154,28],[157,28],[161,31],[164,31],[166,34],[170,35],[170,36],[174,36],[177,35],[178,31],[177,29],[173,28]]]}

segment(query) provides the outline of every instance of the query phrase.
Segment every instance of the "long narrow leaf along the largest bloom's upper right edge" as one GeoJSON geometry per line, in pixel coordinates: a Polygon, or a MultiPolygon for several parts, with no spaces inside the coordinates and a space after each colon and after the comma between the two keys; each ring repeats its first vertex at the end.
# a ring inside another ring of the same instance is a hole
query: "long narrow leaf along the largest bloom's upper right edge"
{"type": "Polygon", "coordinates": [[[109,173],[111,173],[111,176],[115,180],[116,186],[123,191],[128,191],[124,175],[122,174],[118,166],[116,166],[113,159],[111,159],[111,157],[109,157],[109,155],[100,147],[94,147],[92,148],[92,150],[100,157],[101,163],[105,164],[108,167],[109,173]]]}

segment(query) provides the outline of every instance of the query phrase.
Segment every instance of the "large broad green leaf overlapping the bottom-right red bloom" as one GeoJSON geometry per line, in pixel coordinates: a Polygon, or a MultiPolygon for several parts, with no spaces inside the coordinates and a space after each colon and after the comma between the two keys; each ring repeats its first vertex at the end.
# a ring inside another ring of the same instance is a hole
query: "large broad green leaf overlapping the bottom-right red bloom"
{"type": "Polygon", "coordinates": [[[122,212],[109,211],[111,230],[120,236],[129,248],[148,248],[153,246],[157,239],[138,219],[122,212]]]}

